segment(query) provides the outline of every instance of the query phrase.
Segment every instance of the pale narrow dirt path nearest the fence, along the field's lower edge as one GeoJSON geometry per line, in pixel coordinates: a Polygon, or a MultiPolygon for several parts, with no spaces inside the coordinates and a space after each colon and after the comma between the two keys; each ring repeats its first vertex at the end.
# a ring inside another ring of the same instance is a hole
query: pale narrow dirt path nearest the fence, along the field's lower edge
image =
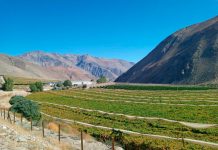
{"type": "Polygon", "coordinates": [[[95,128],[100,128],[100,129],[105,129],[105,130],[117,130],[117,131],[121,131],[123,133],[126,134],[135,134],[135,135],[140,135],[140,136],[147,136],[147,137],[153,137],[153,138],[160,138],[160,139],[170,139],[170,140],[184,140],[186,142],[191,142],[191,143],[196,143],[196,144],[200,144],[203,146],[211,146],[214,148],[218,148],[218,143],[213,143],[213,142],[206,142],[206,141],[201,141],[201,140],[195,140],[195,139],[189,139],[189,138],[174,138],[174,137],[169,137],[169,136],[163,136],[163,135],[154,135],[154,134],[142,134],[139,132],[134,132],[134,131],[129,131],[129,130],[123,130],[123,129],[117,129],[117,128],[110,128],[110,127],[105,127],[105,126],[97,126],[97,125],[93,125],[93,124],[88,124],[85,122],[80,122],[80,121],[76,121],[76,120],[69,120],[69,119],[62,119],[62,118],[58,118],[58,117],[54,117],[51,115],[48,115],[46,113],[42,113],[48,117],[54,118],[54,119],[59,119],[68,123],[77,123],[80,125],[84,125],[84,126],[88,126],[88,127],[95,127],[95,128]]]}

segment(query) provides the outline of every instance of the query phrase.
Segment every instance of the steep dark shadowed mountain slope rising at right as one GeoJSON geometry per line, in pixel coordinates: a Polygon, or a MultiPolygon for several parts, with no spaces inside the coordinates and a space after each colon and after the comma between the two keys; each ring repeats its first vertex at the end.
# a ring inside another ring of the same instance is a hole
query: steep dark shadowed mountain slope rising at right
{"type": "Polygon", "coordinates": [[[217,79],[218,16],[170,35],[116,82],[195,84],[217,79]]]}

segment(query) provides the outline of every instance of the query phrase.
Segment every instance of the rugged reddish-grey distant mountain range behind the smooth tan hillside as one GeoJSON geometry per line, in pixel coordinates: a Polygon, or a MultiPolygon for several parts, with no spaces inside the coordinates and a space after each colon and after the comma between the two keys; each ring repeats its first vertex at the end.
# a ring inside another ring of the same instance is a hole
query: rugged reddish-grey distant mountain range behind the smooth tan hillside
{"type": "Polygon", "coordinates": [[[77,76],[75,73],[79,72],[80,74],[89,75],[90,79],[105,76],[113,81],[134,65],[134,63],[119,59],[104,59],[90,55],[61,55],[43,51],[26,53],[19,56],[19,58],[40,65],[46,70],[65,71],[69,79],[72,76],[77,76]]]}

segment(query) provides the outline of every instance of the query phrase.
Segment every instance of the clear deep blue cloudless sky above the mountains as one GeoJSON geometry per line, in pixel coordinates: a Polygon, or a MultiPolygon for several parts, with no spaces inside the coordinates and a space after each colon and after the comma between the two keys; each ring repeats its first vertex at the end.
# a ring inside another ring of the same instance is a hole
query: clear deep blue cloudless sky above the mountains
{"type": "Polygon", "coordinates": [[[137,62],[169,34],[216,15],[218,0],[0,0],[0,53],[137,62]]]}

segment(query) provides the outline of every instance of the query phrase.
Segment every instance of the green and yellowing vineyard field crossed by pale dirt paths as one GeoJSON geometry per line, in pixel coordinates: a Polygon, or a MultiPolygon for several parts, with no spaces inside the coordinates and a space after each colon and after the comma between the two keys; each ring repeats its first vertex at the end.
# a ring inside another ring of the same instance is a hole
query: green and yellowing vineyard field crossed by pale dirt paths
{"type": "MultiPolygon", "coordinates": [[[[27,98],[39,102],[42,112],[59,118],[218,143],[218,90],[73,89],[34,93],[27,98]]],[[[94,129],[89,131],[96,134],[94,129]]],[[[129,142],[134,141],[128,137],[129,142]]]]}

